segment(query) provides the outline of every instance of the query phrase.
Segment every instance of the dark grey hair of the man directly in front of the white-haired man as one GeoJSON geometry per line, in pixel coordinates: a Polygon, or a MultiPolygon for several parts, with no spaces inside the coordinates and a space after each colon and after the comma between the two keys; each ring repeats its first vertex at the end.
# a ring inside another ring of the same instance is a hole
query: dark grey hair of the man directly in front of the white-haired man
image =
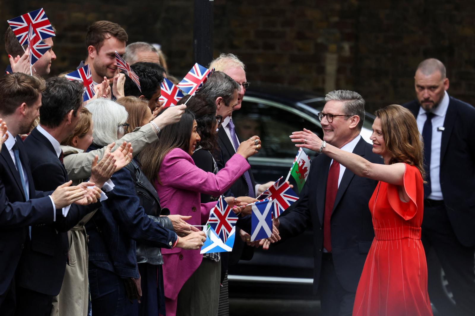
{"type": "Polygon", "coordinates": [[[239,91],[240,88],[239,84],[230,76],[221,71],[215,71],[209,76],[198,93],[204,94],[213,102],[216,102],[218,97],[222,97],[224,105],[229,106],[234,93],[239,91]]]}

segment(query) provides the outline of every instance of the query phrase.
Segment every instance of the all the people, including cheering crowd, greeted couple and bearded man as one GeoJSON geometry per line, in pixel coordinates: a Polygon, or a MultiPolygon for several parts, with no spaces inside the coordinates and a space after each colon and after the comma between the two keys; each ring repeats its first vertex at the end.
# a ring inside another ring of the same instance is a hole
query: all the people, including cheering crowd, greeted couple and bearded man
{"type": "Polygon", "coordinates": [[[251,242],[248,204],[273,181],[256,183],[247,158],[265,144],[240,139],[232,120],[245,65],[219,55],[198,93],[163,109],[160,84],[177,79],[160,49],[127,41],[116,23],[89,26],[78,68],[89,65],[95,96],[83,102],[83,83],[67,73],[43,79],[53,37],[30,74],[7,29],[0,315],[228,315],[229,265],[309,227],[323,315],[432,315],[430,248],[456,301],[451,315],[473,315],[475,109],[448,95],[440,61],[418,65],[417,100],[375,113],[372,144],[360,136],[361,95],[329,92],[323,139],[289,131],[296,147],[320,153],[299,200],[271,237],[251,242]],[[118,73],[115,51],[141,89],[118,73]],[[200,254],[221,195],[238,216],[233,251],[200,254]]]}

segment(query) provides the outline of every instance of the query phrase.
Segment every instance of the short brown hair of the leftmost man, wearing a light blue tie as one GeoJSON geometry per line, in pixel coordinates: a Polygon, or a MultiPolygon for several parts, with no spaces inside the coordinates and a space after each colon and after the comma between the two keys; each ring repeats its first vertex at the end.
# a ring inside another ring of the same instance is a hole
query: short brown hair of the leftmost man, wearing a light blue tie
{"type": "Polygon", "coordinates": [[[0,79],[0,114],[10,115],[25,102],[31,106],[45,90],[45,81],[36,75],[7,74],[0,79]]]}

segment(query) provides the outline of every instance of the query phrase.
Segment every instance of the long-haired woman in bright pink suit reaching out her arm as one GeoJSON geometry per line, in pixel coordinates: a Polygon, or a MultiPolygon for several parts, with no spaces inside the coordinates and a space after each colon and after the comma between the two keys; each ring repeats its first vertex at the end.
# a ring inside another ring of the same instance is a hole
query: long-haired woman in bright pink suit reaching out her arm
{"type": "MultiPolygon", "coordinates": [[[[206,222],[209,211],[216,205],[216,202],[200,203],[200,194],[216,196],[227,191],[250,168],[246,159],[261,148],[257,136],[247,139],[241,143],[226,166],[215,175],[196,167],[191,158],[200,138],[194,115],[190,111],[185,110],[178,123],[164,128],[160,138],[157,144],[142,152],[142,171],[155,185],[162,207],[170,209],[171,214],[192,216],[188,220],[191,225],[206,222]]],[[[227,197],[226,202],[230,206],[239,203],[234,197],[227,197]]],[[[237,213],[237,208],[235,210],[237,213]]],[[[193,274],[206,279],[206,270],[200,267],[203,256],[199,250],[179,249],[162,250],[162,254],[166,312],[169,316],[177,315],[177,298],[183,284],[193,274]]],[[[199,287],[199,283],[196,287],[199,287]]],[[[180,304],[190,306],[188,310],[194,315],[202,315],[199,310],[192,308],[193,301],[199,297],[186,297],[183,294],[180,295],[180,304]]]]}

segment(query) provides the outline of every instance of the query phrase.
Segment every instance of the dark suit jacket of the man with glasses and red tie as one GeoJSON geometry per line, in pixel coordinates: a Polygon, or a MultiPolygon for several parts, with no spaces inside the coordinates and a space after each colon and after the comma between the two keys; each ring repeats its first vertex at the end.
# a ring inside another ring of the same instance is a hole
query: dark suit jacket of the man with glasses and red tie
{"type": "MultiPolygon", "coordinates": [[[[373,162],[383,163],[372,146],[360,137],[353,153],[373,162]]],[[[332,159],[320,154],[312,160],[310,174],[294,209],[279,217],[279,232],[284,240],[313,227],[315,247],[314,291],[318,288],[323,251],[323,213],[326,183],[332,159]]],[[[374,238],[368,207],[377,181],[358,177],[348,168],[333,207],[331,218],[332,256],[338,281],[345,290],[356,292],[366,255],[374,238]]]]}

